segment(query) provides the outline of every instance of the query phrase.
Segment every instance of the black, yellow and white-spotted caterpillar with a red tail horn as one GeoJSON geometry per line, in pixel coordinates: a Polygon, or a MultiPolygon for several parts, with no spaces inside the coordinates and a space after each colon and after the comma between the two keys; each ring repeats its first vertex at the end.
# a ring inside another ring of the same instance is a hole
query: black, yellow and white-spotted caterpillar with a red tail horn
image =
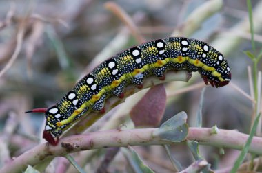
{"type": "Polygon", "coordinates": [[[163,78],[165,71],[181,69],[198,71],[212,87],[223,87],[231,80],[228,62],[219,51],[203,41],[170,37],[122,51],[82,78],[54,106],[26,113],[45,113],[43,138],[57,145],[62,132],[87,111],[103,110],[105,99],[111,95],[123,97],[127,84],[143,87],[147,76],[163,78]]]}

